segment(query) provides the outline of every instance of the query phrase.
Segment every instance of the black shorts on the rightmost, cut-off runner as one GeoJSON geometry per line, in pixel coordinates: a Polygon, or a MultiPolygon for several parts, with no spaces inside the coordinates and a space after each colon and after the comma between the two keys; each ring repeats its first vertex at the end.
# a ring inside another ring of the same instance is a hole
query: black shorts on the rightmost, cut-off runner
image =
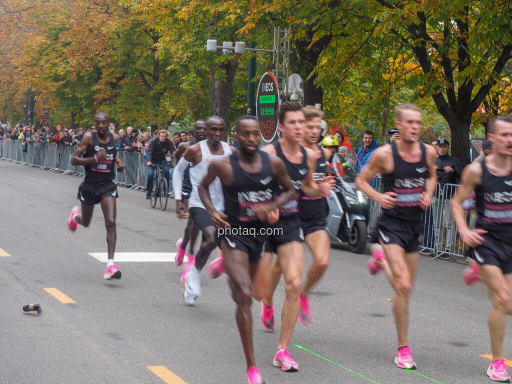
{"type": "Polygon", "coordinates": [[[512,244],[482,234],[485,239],[482,245],[473,249],[473,259],[479,265],[494,265],[503,271],[503,274],[512,273],[512,244]]]}

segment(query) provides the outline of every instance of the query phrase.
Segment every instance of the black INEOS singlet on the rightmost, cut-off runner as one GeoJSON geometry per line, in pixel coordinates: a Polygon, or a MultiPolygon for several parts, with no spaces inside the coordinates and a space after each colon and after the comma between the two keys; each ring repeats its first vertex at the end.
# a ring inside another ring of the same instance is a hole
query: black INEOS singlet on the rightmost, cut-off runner
{"type": "Polygon", "coordinates": [[[489,236],[512,244],[512,173],[494,176],[482,161],[482,182],[475,189],[477,228],[489,236]]]}

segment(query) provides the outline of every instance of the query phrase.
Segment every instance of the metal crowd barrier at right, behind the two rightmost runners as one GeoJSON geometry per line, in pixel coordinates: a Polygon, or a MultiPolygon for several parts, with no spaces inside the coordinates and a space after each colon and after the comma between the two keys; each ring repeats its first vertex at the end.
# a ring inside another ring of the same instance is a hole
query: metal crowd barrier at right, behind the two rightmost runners
{"type": "MultiPolygon", "coordinates": [[[[382,192],[381,179],[377,180],[374,183],[374,189],[382,192]]],[[[456,257],[463,258],[467,251],[467,245],[462,241],[457,231],[451,210],[451,198],[455,194],[457,187],[459,187],[458,184],[445,184],[441,188],[439,183],[437,183],[434,197],[432,198],[432,205],[423,214],[424,231],[419,239],[418,251],[432,254],[434,256],[433,259],[444,258],[457,261],[456,257]]],[[[469,207],[466,209],[466,222],[473,229],[476,222],[474,204],[466,201],[465,206],[469,207]]],[[[368,233],[371,233],[375,228],[380,212],[380,204],[371,201],[368,233]]]]}

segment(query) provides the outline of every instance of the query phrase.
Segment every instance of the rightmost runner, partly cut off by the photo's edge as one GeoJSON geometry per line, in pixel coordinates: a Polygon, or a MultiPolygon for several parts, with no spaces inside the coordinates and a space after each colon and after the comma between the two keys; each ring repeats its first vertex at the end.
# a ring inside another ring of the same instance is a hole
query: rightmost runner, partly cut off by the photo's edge
{"type": "Polygon", "coordinates": [[[487,369],[490,379],[510,382],[503,358],[506,317],[512,314],[512,117],[489,121],[487,137],[492,142],[489,156],[466,167],[452,211],[464,243],[474,248],[481,280],[492,298],[489,335],[493,359],[487,369]],[[464,220],[464,199],[475,191],[478,212],[476,229],[464,220]]]}

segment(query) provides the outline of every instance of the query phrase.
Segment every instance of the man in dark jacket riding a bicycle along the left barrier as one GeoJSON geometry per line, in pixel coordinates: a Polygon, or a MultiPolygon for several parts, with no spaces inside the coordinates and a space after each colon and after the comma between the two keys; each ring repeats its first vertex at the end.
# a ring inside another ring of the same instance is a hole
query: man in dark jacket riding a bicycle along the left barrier
{"type": "Polygon", "coordinates": [[[170,161],[170,155],[174,151],[173,143],[167,138],[167,131],[161,130],[158,132],[158,137],[151,139],[150,145],[147,147],[147,174],[146,174],[146,200],[151,197],[153,190],[153,177],[155,167],[153,164],[163,165],[163,174],[167,180],[167,185],[170,185],[170,173],[167,161],[170,161]]]}

